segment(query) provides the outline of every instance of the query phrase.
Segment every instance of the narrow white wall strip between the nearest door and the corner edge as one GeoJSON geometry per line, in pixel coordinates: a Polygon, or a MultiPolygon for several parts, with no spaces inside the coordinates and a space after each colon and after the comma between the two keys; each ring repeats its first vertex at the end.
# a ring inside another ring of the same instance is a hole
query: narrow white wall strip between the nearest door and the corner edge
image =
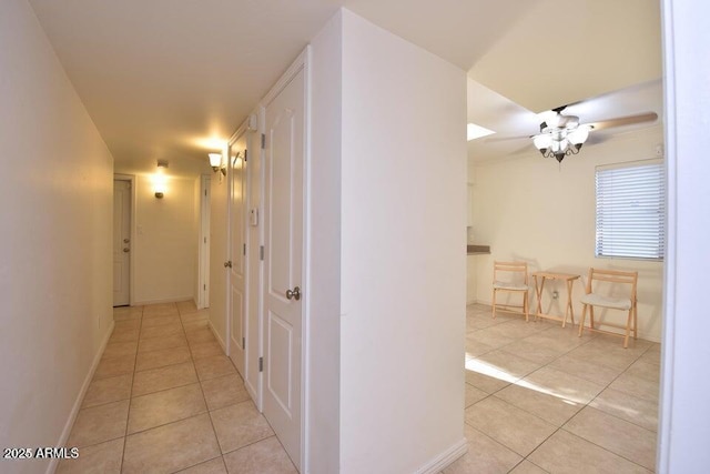
{"type": "Polygon", "coordinates": [[[342,16],[311,42],[308,472],[339,471],[342,16]]]}

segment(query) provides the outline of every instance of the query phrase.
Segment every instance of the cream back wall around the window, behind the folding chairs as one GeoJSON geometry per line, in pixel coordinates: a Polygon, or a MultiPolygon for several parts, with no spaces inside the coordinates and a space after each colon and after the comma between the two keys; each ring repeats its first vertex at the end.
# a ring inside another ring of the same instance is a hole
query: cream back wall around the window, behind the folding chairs
{"type": "MultiPolygon", "coordinates": [[[[477,256],[476,300],[490,304],[494,260],[524,260],[530,272],[555,269],[582,275],[572,295],[579,317],[589,266],[638,270],[639,336],[660,341],[663,264],[595,258],[595,167],[657,158],[656,145],[662,142],[662,127],[656,125],[582,148],[561,165],[542,158],[531,145],[530,154],[519,159],[477,165],[474,229],[476,241],[489,244],[491,253],[477,256]]],[[[566,294],[561,282],[550,283],[545,285],[546,293],[557,289],[566,294]]],[[[535,304],[534,292],[530,296],[535,304]]],[[[542,300],[546,305],[551,301],[549,294],[542,300]]],[[[565,302],[558,300],[560,306],[565,302]]],[[[562,312],[557,305],[545,310],[562,312]]],[[[626,323],[622,312],[610,311],[608,317],[626,323]]]]}

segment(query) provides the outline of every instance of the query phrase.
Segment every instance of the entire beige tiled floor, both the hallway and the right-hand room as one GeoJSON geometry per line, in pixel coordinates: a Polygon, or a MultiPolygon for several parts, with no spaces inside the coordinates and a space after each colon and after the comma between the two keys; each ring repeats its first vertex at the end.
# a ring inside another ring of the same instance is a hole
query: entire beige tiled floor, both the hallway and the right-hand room
{"type": "MultiPolygon", "coordinates": [[[[123,307],[58,473],[295,473],[192,302],[123,307]]],[[[467,310],[468,453],[445,473],[648,473],[660,346],[467,310]]]]}

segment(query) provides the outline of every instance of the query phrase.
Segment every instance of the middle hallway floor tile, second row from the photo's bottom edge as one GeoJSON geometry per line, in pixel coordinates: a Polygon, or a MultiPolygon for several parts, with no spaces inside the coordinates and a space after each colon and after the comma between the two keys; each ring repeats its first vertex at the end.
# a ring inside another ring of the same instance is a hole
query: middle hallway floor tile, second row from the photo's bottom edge
{"type": "Polygon", "coordinates": [[[136,396],[131,400],[128,433],[189,418],[206,411],[199,383],[136,396]]]}

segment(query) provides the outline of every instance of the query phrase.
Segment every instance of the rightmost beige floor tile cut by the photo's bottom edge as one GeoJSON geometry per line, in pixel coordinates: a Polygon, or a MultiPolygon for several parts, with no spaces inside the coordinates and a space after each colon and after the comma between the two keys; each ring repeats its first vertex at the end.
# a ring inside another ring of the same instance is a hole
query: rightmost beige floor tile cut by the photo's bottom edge
{"type": "Polygon", "coordinates": [[[550,473],[643,474],[646,468],[596,444],[560,430],[529,456],[529,461],[550,473]]]}

